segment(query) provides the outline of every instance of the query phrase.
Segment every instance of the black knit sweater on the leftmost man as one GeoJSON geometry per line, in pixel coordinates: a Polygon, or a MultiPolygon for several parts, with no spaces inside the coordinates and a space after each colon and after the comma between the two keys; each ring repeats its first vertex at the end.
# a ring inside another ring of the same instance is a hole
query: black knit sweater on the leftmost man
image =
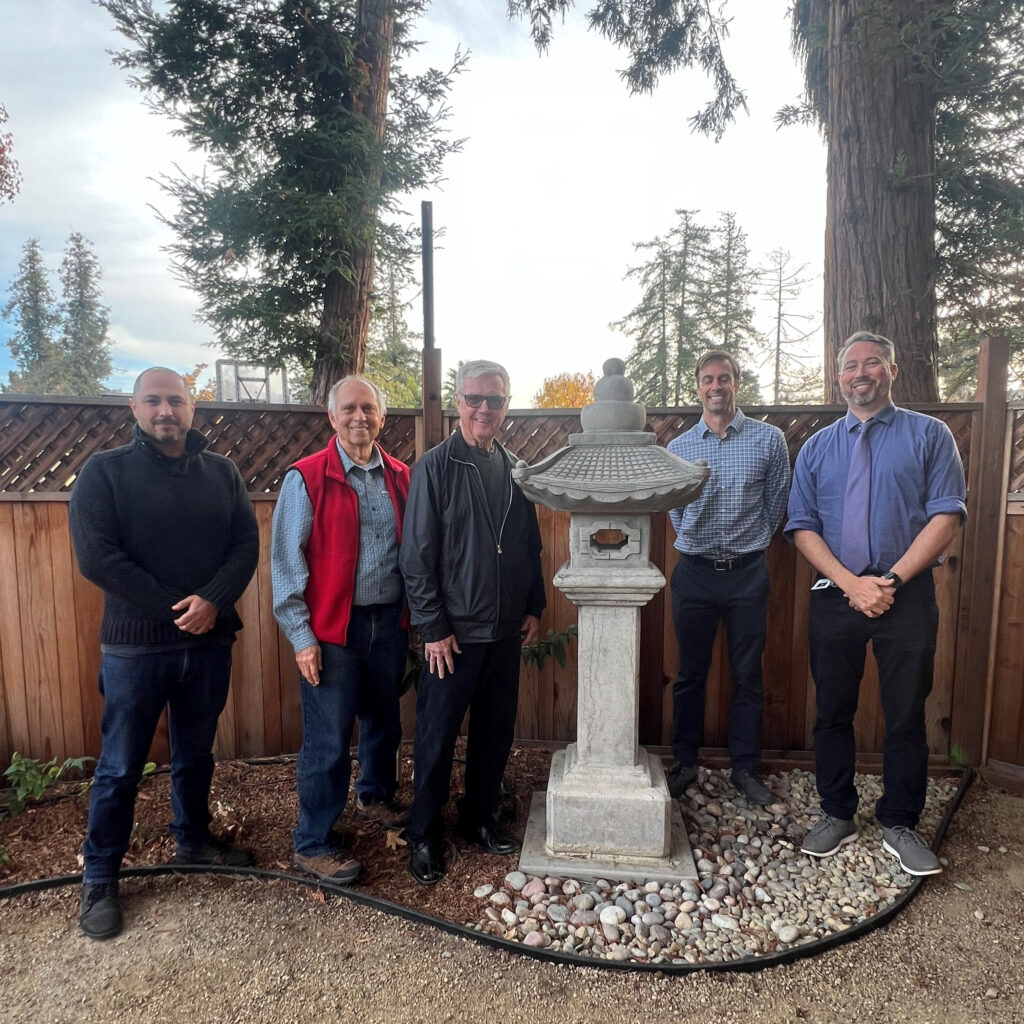
{"type": "Polygon", "coordinates": [[[209,643],[242,628],[234,602],[256,568],[259,532],[234,464],[189,430],[169,459],[136,425],[132,442],[92,456],[71,496],[82,575],[103,591],[99,639],[114,644],[209,643]],[[190,594],[217,606],[204,637],[174,625],[190,594]]]}

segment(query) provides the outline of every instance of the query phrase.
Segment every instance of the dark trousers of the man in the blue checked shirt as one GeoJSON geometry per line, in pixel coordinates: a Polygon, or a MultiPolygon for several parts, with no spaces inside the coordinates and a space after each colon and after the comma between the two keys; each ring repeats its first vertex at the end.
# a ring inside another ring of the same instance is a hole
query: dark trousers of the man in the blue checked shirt
{"type": "Polygon", "coordinates": [[[703,737],[705,688],[721,621],[729,647],[732,701],[729,755],[733,768],[753,771],[761,761],[761,717],[768,613],[768,568],[760,557],[741,568],[718,571],[686,555],[672,573],[672,621],[679,644],[679,673],[672,688],[672,753],[696,764],[703,737]]]}

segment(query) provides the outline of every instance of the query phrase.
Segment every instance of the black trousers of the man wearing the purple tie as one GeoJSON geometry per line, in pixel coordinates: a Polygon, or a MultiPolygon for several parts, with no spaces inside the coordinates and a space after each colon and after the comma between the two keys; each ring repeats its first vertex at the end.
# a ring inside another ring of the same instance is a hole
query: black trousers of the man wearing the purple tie
{"type": "Polygon", "coordinates": [[[888,827],[916,826],[928,786],[925,700],[932,691],[938,623],[931,570],[901,587],[893,606],[878,618],[855,611],[836,588],[811,594],[811,672],[818,708],[814,758],[826,814],[849,819],[857,810],[853,718],[870,640],[886,721],[884,790],[874,812],[888,827]]]}

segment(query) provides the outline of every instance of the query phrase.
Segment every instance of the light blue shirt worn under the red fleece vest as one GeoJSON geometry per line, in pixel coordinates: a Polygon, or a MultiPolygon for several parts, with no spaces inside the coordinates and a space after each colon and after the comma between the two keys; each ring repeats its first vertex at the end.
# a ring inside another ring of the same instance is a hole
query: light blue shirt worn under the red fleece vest
{"type": "MultiPolygon", "coordinates": [[[[384,480],[380,453],[366,466],[357,466],[335,438],[345,478],[359,503],[359,559],[355,568],[352,603],[388,604],[401,597],[398,573],[398,532],[394,505],[384,480]]],[[[313,508],[302,474],[290,469],[278,495],[274,543],[270,551],[274,615],[296,650],[316,643],[309,628],[309,609],[302,595],[309,579],[305,547],[313,524],[313,508]],[[278,595],[283,596],[280,600],[278,595]]]]}

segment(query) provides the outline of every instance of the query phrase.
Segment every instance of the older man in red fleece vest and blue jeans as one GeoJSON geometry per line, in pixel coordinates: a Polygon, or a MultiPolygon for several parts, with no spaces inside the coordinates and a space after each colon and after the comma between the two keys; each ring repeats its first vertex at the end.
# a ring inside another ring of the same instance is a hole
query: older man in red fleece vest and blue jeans
{"type": "Polygon", "coordinates": [[[398,544],[409,468],[377,443],[386,414],[365,378],[335,384],[328,416],[337,436],[286,474],[270,546],[273,614],[302,676],[293,864],[342,885],[361,871],[334,828],[348,800],[356,717],[356,813],[401,823],[395,756],[408,640],[398,544]]]}

